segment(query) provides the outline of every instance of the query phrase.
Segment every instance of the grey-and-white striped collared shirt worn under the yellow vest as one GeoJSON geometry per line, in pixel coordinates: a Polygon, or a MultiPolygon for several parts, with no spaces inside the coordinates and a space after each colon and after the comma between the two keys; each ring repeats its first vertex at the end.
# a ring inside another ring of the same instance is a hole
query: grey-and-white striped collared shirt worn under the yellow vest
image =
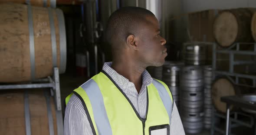
{"type": "MultiPolygon", "coordinates": [[[[112,69],[111,64],[112,62],[106,62],[102,70],[112,77],[128,99],[131,100],[141,118],[146,118],[147,86],[152,82],[151,75],[146,70],[142,73],[142,86],[138,93],[135,85],[112,69]]],[[[175,102],[171,116],[170,132],[170,135],[185,135],[175,102]]],[[[64,135],[93,135],[82,102],[75,94],[70,97],[69,103],[66,106],[64,135]]]]}

